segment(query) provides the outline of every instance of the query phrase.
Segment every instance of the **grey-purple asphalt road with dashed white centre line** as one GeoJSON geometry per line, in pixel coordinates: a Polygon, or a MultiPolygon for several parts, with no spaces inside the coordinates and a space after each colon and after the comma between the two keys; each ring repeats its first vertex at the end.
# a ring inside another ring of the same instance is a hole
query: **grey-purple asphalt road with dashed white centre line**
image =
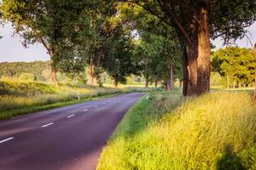
{"type": "Polygon", "coordinates": [[[0,121],[0,169],[96,169],[108,137],[141,96],[122,94],[0,121]]]}

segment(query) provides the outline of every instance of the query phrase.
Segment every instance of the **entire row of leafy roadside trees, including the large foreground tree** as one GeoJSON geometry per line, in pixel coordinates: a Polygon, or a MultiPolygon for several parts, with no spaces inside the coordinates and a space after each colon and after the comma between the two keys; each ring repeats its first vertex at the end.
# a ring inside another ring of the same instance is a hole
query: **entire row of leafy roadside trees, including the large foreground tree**
{"type": "Polygon", "coordinates": [[[195,95],[210,88],[210,38],[223,37],[229,43],[243,37],[256,20],[256,3],[3,0],[1,13],[25,46],[44,44],[55,84],[56,70],[76,75],[86,65],[91,84],[100,83],[102,71],[115,84],[143,73],[148,82],[162,81],[168,89],[179,77],[183,95],[195,95]]]}

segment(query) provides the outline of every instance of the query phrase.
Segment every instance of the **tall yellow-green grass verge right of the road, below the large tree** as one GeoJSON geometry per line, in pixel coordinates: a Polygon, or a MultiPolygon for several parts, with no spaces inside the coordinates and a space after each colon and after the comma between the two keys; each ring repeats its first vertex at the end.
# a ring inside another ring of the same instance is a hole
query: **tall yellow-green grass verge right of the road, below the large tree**
{"type": "Polygon", "coordinates": [[[97,169],[256,169],[255,113],[245,92],[154,94],[124,117],[97,169]]]}

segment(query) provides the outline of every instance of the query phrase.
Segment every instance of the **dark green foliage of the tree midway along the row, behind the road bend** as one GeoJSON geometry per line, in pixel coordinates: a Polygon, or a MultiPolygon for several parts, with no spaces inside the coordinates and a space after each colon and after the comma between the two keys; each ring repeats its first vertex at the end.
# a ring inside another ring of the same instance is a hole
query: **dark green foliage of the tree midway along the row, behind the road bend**
{"type": "Polygon", "coordinates": [[[125,30],[125,26],[119,18],[113,19],[112,22],[114,28],[111,28],[110,35],[104,42],[104,46],[108,49],[102,59],[102,68],[115,82],[125,84],[127,82],[126,77],[131,76],[131,74],[137,75],[139,67],[132,58],[134,44],[131,39],[131,32],[125,30]]]}

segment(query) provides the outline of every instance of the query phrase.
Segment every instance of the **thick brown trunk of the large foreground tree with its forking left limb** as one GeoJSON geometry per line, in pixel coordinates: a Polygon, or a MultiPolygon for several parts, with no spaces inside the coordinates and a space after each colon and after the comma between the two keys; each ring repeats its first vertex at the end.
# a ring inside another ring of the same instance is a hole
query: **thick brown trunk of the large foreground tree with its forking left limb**
{"type": "Polygon", "coordinates": [[[200,95],[210,90],[210,37],[207,2],[198,3],[199,10],[190,20],[189,26],[188,23],[178,20],[175,12],[168,8],[168,4],[170,4],[168,1],[162,2],[162,8],[174,23],[181,46],[183,47],[185,42],[189,48],[187,58],[183,54],[183,95],[200,95]],[[187,27],[188,30],[184,27],[187,27]]]}

